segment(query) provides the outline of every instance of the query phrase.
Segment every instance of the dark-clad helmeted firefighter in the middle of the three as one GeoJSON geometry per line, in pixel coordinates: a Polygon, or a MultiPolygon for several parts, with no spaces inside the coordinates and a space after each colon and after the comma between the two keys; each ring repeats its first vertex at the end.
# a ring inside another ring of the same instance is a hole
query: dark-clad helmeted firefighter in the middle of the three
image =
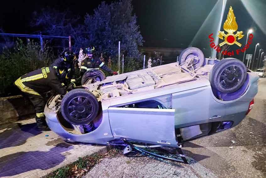
{"type": "MultiPolygon", "coordinates": [[[[65,50],[61,53],[60,58],[56,59],[52,63],[52,67],[56,69],[57,73],[66,71],[66,79],[70,79],[70,84],[75,88],[76,87],[76,79],[75,79],[75,67],[74,62],[76,60],[76,56],[72,51],[65,50]]],[[[64,85],[65,79],[62,82],[64,85]]]]}

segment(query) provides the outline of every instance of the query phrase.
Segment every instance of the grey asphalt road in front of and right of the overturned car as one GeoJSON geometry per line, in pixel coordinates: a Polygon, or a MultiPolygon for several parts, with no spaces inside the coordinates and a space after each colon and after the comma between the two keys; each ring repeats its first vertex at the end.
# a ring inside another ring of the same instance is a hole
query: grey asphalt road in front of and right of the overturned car
{"type": "Polygon", "coordinates": [[[104,159],[85,178],[266,178],[266,78],[259,80],[255,108],[238,126],[183,145],[198,162],[177,168],[150,158],[104,159]]]}

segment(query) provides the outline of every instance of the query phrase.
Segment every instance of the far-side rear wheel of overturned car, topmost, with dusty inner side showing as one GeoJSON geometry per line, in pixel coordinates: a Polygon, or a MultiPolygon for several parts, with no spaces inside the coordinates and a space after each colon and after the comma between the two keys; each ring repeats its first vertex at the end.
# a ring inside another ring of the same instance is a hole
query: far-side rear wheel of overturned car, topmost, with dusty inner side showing
{"type": "Polygon", "coordinates": [[[191,57],[194,57],[193,59],[194,69],[202,67],[205,60],[204,54],[200,49],[195,47],[186,48],[181,52],[181,54],[178,56],[179,64],[181,65],[184,64],[184,62],[191,57]]]}

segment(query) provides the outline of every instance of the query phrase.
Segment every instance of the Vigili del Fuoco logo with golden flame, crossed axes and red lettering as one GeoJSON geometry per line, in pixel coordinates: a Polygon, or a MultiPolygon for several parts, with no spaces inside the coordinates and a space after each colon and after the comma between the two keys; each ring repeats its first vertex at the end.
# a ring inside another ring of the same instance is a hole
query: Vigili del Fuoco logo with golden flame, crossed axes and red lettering
{"type": "MultiPolygon", "coordinates": [[[[243,38],[243,36],[244,36],[244,35],[242,35],[243,31],[237,31],[236,34],[234,34],[235,31],[238,29],[238,25],[236,23],[236,17],[235,17],[235,14],[233,12],[232,6],[230,6],[230,8],[229,8],[229,12],[227,14],[227,18],[226,18],[225,23],[223,25],[223,29],[227,32],[227,34],[224,31],[218,31],[219,35],[217,35],[220,39],[224,40],[223,42],[221,42],[219,44],[220,47],[218,45],[215,45],[214,42],[212,42],[212,41],[214,41],[214,38],[212,37],[213,33],[208,36],[209,39],[211,39],[210,40],[210,42],[211,42],[210,47],[211,48],[220,52],[221,46],[223,46],[225,44],[227,44],[227,45],[236,44],[239,47],[242,46],[242,44],[239,43],[237,40],[240,40],[241,38],[243,38]]],[[[240,51],[244,52],[249,47],[249,45],[251,44],[252,38],[253,38],[253,35],[250,34],[247,44],[244,47],[242,47],[241,49],[237,49],[236,54],[239,54],[240,51]]],[[[230,52],[229,51],[228,52],[222,51],[222,53],[224,55],[228,55],[228,56],[233,56],[235,54],[234,51],[230,51],[230,52]]]]}

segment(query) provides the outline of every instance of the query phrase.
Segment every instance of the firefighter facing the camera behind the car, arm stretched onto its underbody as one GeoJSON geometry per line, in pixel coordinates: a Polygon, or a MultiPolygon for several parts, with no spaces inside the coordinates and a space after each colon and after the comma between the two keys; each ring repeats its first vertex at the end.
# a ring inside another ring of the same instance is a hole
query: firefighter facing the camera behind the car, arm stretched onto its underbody
{"type": "Polygon", "coordinates": [[[111,74],[117,75],[117,72],[112,71],[110,68],[108,68],[104,62],[102,62],[98,57],[95,56],[95,47],[89,46],[85,49],[86,56],[80,67],[80,74],[81,76],[90,69],[103,69],[111,74]]]}

